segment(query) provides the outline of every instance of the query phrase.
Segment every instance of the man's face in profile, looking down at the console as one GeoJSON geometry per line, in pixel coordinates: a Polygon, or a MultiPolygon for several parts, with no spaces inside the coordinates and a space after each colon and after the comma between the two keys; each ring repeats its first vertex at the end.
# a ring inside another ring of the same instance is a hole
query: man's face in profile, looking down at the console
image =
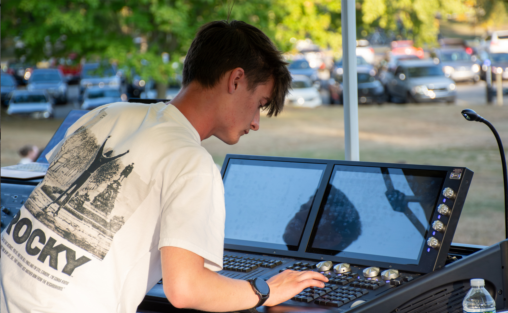
{"type": "Polygon", "coordinates": [[[258,85],[253,91],[242,86],[231,101],[222,106],[222,127],[214,135],[228,145],[234,145],[251,129],[258,130],[260,110],[270,99],[272,89],[273,79],[258,85]]]}

